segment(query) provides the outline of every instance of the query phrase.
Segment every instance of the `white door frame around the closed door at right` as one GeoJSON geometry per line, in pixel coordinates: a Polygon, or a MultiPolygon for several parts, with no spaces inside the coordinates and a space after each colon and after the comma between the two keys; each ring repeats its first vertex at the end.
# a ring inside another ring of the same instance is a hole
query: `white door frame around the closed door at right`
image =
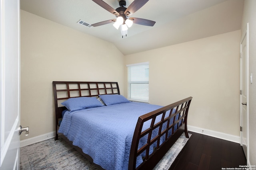
{"type": "MultiPolygon", "coordinates": [[[[242,52],[242,41],[246,37],[246,137],[247,137],[247,162],[249,159],[249,23],[246,24],[246,29],[244,33],[242,34],[241,40],[240,40],[240,53],[242,52]]],[[[243,55],[243,54],[242,54],[243,55]]],[[[242,90],[242,59],[240,59],[240,90],[242,90]]],[[[242,127],[242,95],[240,95],[240,127],[242,127]]],[[[240,145],[242,146],[242,131],[240,131],[240,145]]],[[[247,163],[248,164],[248,163],[247,163]]]]}

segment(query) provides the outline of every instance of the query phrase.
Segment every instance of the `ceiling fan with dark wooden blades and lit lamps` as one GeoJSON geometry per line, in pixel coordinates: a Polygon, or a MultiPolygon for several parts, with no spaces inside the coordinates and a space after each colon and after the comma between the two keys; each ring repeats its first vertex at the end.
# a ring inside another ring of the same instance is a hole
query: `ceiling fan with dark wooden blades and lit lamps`
{"type": "Polygon", "coordinates": [[[97,27],[100,25],[105,25],[105,24],[114,22],[113,25],[114,25],[114,27],[116,27],[116,29],[118,29],[120,27],[122,37],[124,35],[125,36],[127,35],[128,27],[131,27],[132,23],[146,25],[146,26],[154,26],[154,24],[156,23],[155,21],[151,21],[151,20],[130,17],[134,12],[136,12],[142,6],[144,6],[149,0],[134,0],[130,4],[130,6],[128,6],[128,8],[125,8],[125,6],[126,6],[125,0],[118,0],[120,7],[116,8],[116,10],[114,10],[114,8],[109,6],[103,0],[92,0],[92,1],[116,16],[116,19],[94,23],[94,24],[92,24],[92,26],[97,27]]]}

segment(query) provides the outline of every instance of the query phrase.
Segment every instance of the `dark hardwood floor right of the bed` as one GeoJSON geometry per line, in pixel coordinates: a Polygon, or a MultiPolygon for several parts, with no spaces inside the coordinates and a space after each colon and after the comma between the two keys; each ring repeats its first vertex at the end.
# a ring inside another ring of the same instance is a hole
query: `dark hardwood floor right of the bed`
{"type": "Polygon", "coordinates": [[[246,165],[240,144],[189,132],[192,134],[169,170],[222,170],[246,165]]]}

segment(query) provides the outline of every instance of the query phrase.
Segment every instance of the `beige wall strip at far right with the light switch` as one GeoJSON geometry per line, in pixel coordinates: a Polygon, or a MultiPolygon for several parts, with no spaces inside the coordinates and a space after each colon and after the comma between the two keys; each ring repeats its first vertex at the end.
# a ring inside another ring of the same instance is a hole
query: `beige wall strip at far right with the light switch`
{"type": "Polygon", "coordinates": [[[242,19],[243,33],[249,23],[249,74],[252,74],[252,83],[249,83],[249,161],[256,165],[256,1],[244,1],[244,13],[242,19]]]}

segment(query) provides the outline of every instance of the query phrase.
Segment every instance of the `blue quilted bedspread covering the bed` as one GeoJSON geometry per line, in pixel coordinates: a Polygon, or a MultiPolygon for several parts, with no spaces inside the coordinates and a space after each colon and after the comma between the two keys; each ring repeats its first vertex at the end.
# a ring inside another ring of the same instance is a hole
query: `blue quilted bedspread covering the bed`
{"type": "MultiPolygon", "coordinates": [[[[106,170],[127,170],[134,129],[140,115],[162,106],[129,102],[64,114],[59,133],[106,170]]],[[[142,158],[137,159],[137,162],[142,158]]]]}

